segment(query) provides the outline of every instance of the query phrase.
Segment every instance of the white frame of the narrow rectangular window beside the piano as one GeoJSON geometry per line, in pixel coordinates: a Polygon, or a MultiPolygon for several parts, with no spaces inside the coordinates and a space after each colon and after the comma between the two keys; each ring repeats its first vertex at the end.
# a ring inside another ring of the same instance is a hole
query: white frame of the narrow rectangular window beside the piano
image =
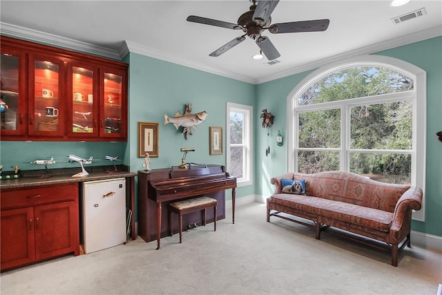
{"type": "Polygon", "coordinates": [[[242,146],[244,149],[244,163],[242,167],[243,177],[237,178],[238,187],[245,187],[253,184],[253,106],[246,104],[234,104],[227,102],[226,111],[226,169],[230,171],[230,148],[242,146]],[[244,114],[244,130],[242,131],[242,144],[230,143],[230,113],[238,112],[244,114]]]}

